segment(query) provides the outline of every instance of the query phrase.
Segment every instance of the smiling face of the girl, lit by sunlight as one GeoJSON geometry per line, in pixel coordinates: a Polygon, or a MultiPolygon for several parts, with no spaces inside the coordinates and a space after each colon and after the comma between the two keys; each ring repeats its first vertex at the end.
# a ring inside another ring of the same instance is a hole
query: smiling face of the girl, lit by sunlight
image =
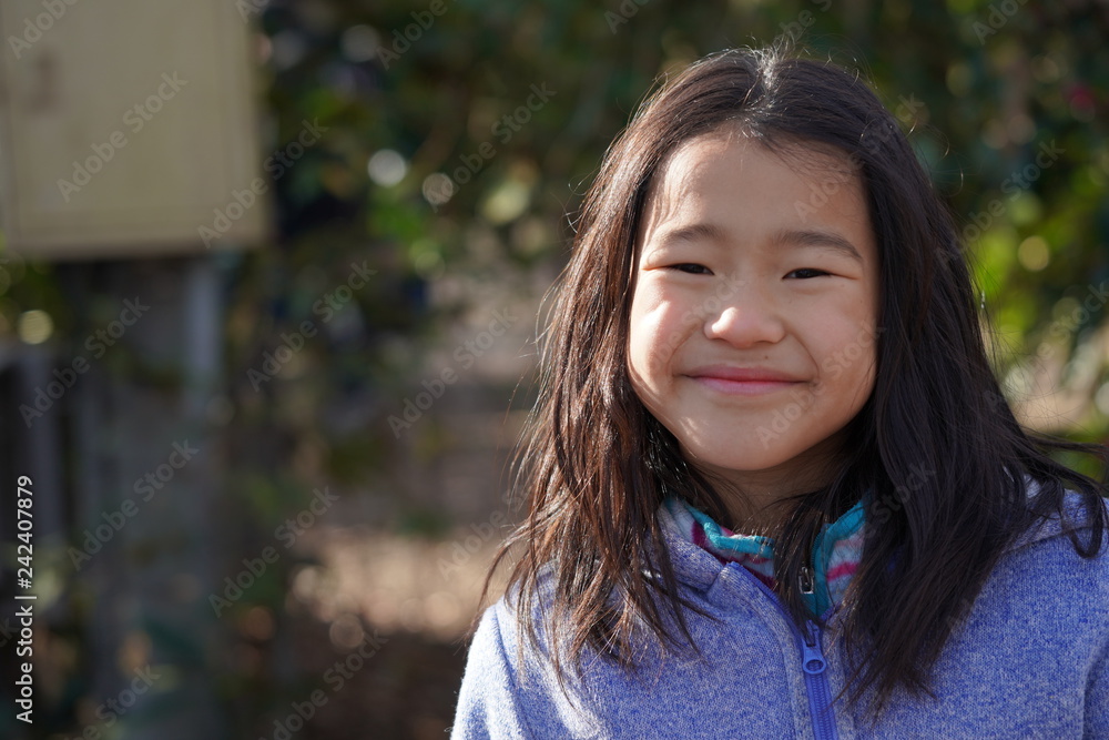
{"type": "Polygon", "coordinates": [[[846,156],[731,130],[682,144],[647,200],[628,365],[683,456],[769,501],[825,483],[874,387],[878,264],[846,156]],[[794,156],[793,154],[796,154],[794,156]]]}

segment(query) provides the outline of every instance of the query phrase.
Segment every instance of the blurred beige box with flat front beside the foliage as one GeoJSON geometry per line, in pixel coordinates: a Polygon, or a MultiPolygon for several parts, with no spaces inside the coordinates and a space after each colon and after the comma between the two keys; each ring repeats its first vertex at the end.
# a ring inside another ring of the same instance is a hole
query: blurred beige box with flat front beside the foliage
{"type": "Polygon", "coordinates": [[[203,252],[202,226],[220,236],[211,249],[264,240],[250,20],[227,0],[0,2],[9,246],[47,260],[203,252]]]}

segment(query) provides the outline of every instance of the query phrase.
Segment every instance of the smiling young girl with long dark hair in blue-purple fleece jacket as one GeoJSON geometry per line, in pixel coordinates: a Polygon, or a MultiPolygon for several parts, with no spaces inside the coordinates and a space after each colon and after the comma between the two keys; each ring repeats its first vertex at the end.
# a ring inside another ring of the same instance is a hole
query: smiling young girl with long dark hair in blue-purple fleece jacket
{"type": "Polygon", "coordinates": [[[1109,738],[1109,508],[1048,456],[1105,450],[1018,425],[857,75],[733,50],[658,91],[542,361],[455,738],[1109,738]]]}

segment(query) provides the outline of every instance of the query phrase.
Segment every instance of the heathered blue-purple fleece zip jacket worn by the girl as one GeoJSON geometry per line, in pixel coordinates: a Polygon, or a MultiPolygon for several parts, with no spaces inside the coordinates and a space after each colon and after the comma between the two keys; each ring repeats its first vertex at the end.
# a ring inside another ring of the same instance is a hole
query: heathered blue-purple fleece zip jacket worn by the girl
{"type": "Polygon", "coordinates": [[[470,647],[451,738],[1109,739],[1109,547],[1079,557],[1058,519],[1005,553],[935,666],[936,699],[898,690],[876,726],[830,707],[845,680],[837,615],[802,637],[751,571],[669,533],[667,545],[684,595],[720,619],[689,615],[703,658],[625,672],[587,651],[568,698],[546,648],[525,641],[518,660],[501,599],[470,647]]]}

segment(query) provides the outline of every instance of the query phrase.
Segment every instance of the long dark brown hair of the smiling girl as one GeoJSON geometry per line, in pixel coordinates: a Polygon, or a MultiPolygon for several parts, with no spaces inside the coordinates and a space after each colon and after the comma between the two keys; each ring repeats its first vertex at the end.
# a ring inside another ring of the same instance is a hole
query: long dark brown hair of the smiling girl
{"type": "Polygon", "coordinates": [[[1014,417],[985,349],[953,219],[896,119],[858,75],[834,64],[773,49],[710,54],[651,94],[613,142],[587,193],[541,341],[540,399],[517,459],[529,515],[490,577],[509,551],[520,553],[509,576],[517,614],[532,645],[537,629],[547,633],[560,682],[587,646],[631,668],[644,629],[671,648],[692,642],[683,610],[696,607],[660,547],[657,511],[668,495],[718,521],[728,508],[632,391],[630,274],[647,193],[665,158],[724,125],[772,150],[832,148],[865,187],[881,263],[875,387],[848,424],[848,452],[831,484],[793,497],[773,536],[780,596],[800,627],[818,619],[798,586],[814,538],[869,491],[842,638],[859,657],[851,701],[876,688],[876,716],[898,685],[929,691],[930,667],[1006,546],[1038,518],[1062,515],[1065,481],[1092,519],[1085,544],[1070,535],[1074,547],[1082,557],[1100,550],[1103,477],[1049,453],[1089,453],[1102,470],[1107,455],[1025,430],[1014,417]],[[1026,475],[1040,484],[1034,498],[1026,475]],[[540,586],[546,608],[537,612],[540,586]]]}

